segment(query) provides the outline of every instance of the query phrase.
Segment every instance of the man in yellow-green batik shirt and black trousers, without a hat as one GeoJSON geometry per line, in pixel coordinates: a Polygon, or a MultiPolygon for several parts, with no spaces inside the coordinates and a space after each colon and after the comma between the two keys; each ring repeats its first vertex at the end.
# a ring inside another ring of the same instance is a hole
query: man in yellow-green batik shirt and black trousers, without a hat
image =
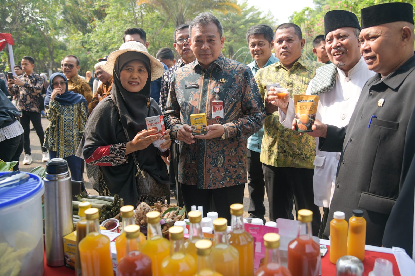
{"type": "Polygon", "coordinates": [[[288,88],[291,97],[304,95],[315,70],[324,63],[306,60],[301,51],[305,40],[301,29],[293,23],[278,26],[274,48],[278,62],[261,68],[255,79],[264,98],[266,119],[261,147],[266,193],[269,201],[270,220],[289,218],[289,200],[294,198],[295,208],[313,211],[312,231],[317,235],[320,211],[314,204],[313,173],[315,139],[300,136],[299,132],[286,129],[278,119],[278,107],[268,102],[266,85],[279,83],[288,88]]]}

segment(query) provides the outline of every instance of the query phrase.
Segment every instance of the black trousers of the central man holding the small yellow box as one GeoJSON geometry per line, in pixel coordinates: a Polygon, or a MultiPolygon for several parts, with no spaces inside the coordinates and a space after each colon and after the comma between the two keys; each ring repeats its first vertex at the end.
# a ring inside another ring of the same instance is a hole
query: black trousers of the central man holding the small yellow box
{"type": "Polygon", "coordinates": [[[230,206],[234,203],[242,204],[244,200],[245,185],[236,185],[217,189],[198,189],[196,185],[184,185],[180,183],[186,211],[191,210],[192,205],[203,206],[203,215],[212,211],[212,201],[215,204],[218,217],[226,218],[228,225],[231,223],[230,206]]]}

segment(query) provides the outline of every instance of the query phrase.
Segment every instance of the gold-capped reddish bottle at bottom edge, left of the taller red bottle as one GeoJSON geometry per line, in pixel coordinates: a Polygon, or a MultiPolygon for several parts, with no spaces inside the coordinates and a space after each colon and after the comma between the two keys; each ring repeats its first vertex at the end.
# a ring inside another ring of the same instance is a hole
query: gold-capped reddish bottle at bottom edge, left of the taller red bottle
{"type": "Polygon", "coordinates": [[[265,259],[264,264],[256,270],[255,276],[291,276],[284,266],[281,266],[280,235],[266,233],[264,235],[265,259]]]}

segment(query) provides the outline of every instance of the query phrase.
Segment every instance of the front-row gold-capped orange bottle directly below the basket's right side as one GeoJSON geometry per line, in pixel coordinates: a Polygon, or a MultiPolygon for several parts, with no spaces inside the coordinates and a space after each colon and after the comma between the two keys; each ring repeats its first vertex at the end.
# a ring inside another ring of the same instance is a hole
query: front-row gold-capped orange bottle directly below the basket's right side
{"type": "Polygon", "coordinates": [[[161,275],[194,276],[196,261],[190,254],[185,253],[183,227],[170,227],[168,237],[170,238],[170,256],[167,256],[161,263],[161,275]]]}

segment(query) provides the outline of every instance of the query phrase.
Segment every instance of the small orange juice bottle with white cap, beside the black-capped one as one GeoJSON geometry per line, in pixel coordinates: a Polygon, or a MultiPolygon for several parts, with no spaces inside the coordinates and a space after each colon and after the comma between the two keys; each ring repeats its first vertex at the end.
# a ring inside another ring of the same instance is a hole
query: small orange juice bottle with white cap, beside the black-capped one
{"type": "Polygon", "coordinates": [[[344,255],[347,255],[347,221],[344,213],[337,211],[330,222],[330,262],[336,264],[344,255]]]}

